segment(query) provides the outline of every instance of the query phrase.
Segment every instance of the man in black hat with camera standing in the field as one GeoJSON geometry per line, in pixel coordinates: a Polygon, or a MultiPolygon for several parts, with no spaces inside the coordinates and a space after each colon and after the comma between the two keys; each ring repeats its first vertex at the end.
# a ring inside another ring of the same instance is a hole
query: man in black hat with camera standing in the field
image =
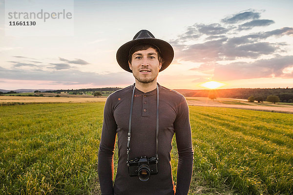
{"type": "Polygon", "coordinates": [[[193,150],[186,99],[157,83],[171,63],[172,46],[147,30],[117,51],[117,61],[135,84],[105,103],[98,172],[102,195],[187,195],[193,150]],[[176,189],[172,178],[172,138],[178,149],[176,189]],[[113,187],[113,154],[118,135],[118,167],[113,187]]]}

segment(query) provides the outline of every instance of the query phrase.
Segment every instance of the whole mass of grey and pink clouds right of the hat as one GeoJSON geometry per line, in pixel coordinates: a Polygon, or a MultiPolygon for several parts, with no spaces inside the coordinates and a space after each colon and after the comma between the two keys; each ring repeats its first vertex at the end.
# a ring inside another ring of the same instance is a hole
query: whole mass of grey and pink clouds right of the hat
{"type": "MultiPolygon", "coordinates": [[[[293,36],[292,27],[283,27],[271,31],[245,31],[256,26],[266,27],[273,20],[261,20],[258,12],[243,12],[222,21],[226,23],[193,24],[185,33],[172,40],[176,60],[201,63],[191,68],[207,76],[200,76],[192,82],[205,81],[207,77],[219,81],[249,78],[293,78],[293,56],[280,56],[287,52],[283,48],[286,42],[267,41],[271,37],[293,36]],[[250,20],[242,22],[244,20],[250,20]],[[238,22],[242,22],[239,24],[238,22]],[[201,42],[200,42],[201,41],[201,42]],[[272,58],[272,56],[275,56],[272,58]],[[261,59],[266,57],[267,59],[261,59]],[[238,62],[232,61],[237,59],[238,62]],[[241,59],[245,59],[239,61],[241,59]],[[250,59],[247,62],[246,59],[250,59]],[[225,60],[224,64],[220,63],[225,60]]],[[[183,63],[184,64],[184,63],[183,63]]]]}

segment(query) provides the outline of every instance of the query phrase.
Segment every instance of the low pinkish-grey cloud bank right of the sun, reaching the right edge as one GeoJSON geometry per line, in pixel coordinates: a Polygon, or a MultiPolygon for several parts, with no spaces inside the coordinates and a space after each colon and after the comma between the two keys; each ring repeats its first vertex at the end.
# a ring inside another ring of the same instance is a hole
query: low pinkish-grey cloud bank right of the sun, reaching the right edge
{"type": "Polygon", "coordinates": [[[278,56],[272,59],[259,59],[253,62],[233,62],[217,65],[214,70],[215,80],[235,80],[246,78],[293,78],[283,70],[293,66],[293,56],[278,56]]]}

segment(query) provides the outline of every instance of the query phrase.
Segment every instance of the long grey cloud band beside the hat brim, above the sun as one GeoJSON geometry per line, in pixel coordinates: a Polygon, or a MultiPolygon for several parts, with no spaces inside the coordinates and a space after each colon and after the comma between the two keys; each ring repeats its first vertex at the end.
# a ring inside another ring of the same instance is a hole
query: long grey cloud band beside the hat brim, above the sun
{"type": "Polygon", "coordinates": [[[246,37],[210,40],[190,44],[186,49],[176,52],[176,59],[192,62],[211,62],[237,58],[256,59],[262,55],[273,54],[280,45],[269,42],[254,42],[246,37]]]}

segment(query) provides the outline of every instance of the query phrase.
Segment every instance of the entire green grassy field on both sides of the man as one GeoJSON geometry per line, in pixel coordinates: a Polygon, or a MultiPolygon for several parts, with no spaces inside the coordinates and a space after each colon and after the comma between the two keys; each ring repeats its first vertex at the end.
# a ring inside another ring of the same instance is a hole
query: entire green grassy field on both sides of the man
{"type": "MultiPolygon", "coordinates": [[[[104,103],[0,107],[0,194],[99,194],[104,103]]],[[[194,149],[190,195],[293,194],[293,115],[189,108],[194,149]]]]}

